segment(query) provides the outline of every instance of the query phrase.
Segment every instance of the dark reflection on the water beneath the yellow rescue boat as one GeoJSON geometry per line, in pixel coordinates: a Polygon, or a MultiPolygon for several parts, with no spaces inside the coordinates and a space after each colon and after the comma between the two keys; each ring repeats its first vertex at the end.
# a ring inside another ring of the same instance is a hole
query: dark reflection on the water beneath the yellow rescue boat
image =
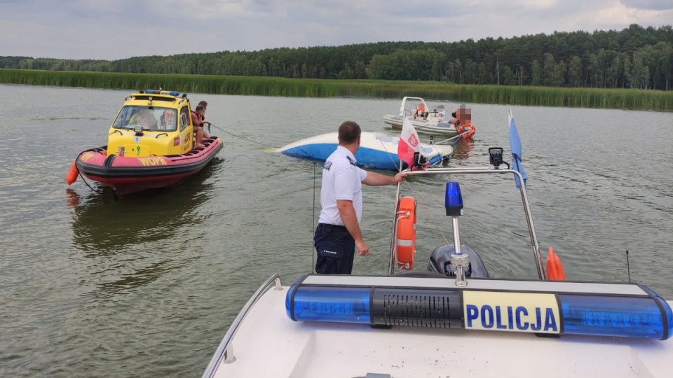
{"type": "Polygon", "coordinates": [[[83,252],[81,271],[89,286],[84,296],[118,300],[140,286],[165,279],[189,266],[201,251],[191,240],[205,232],[199,214],[212,197],[208,180],[223,160],[213,160],[182,185],[116,200],[112,190],[78,195],[67,192],[73,212],[73,244],[83,252]]]}

